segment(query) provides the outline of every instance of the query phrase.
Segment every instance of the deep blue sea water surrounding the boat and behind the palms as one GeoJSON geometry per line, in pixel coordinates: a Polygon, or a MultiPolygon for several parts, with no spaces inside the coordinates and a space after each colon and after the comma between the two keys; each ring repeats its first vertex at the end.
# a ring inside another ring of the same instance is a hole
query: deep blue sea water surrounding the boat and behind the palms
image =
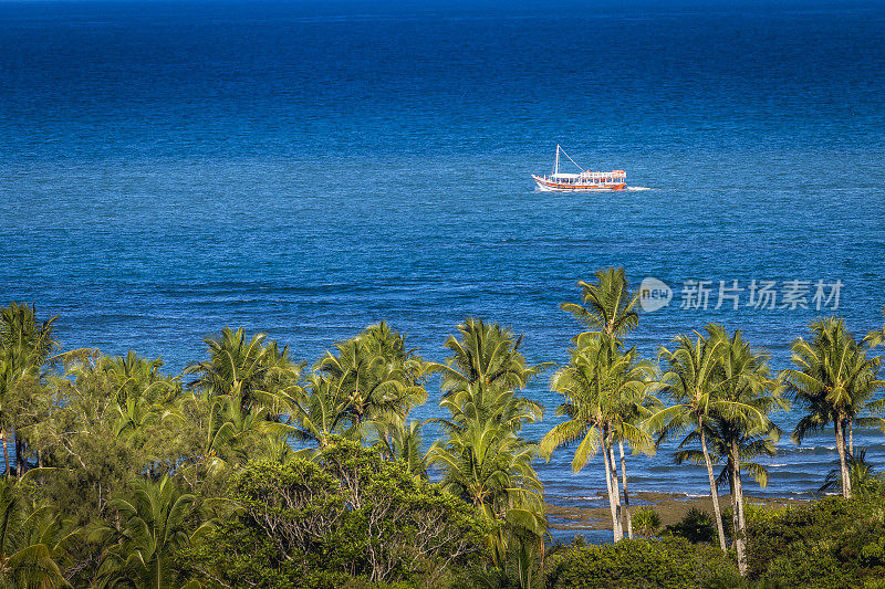
{"type": "MultiPolygon", "coordinates": [[[[835,313],[882,325],[883,96],[874,1],[0,2],[0,303],[171,370],[225,325],[313,360],[387,319],[441,359],[470,315],[562,361],[558,303],[623,265],[674,288],[645,353],[719,320],[783,368],[833,311],[716,311],[719,281],[841,280],[835,313]],[[534,191],[556,143],[650,190],[534,191]],[[691,280],[706,311],[678,308],[691,280]]],[[[762,493],[835,460],[781,445],[762,493]]],[[[568,464],[539,466],[550,499],[597,504],[598,464],[568,464]]],[[[666,451],[632,464],[634,490],[705,492],[666,451]]]]}

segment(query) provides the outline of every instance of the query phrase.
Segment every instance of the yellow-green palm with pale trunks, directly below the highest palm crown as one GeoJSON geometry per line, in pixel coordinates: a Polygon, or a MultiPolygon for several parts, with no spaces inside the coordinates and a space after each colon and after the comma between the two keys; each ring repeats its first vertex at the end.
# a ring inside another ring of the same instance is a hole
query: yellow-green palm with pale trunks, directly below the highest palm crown
{"type": "MultiPolygon", "coordinates": [[[[624,353],[613,346],[612,338],[604,334],[581,338],[581,343],[582,347],[571,350],[570,364],[551,380],[551,388],[565,396],[556,413],[568,420],[544,435],[540,451],[550,460],[556,448],[580,441],[572,460],[572,470],[579,472],[602,450],[612,528],[617,541],[623,538],[623,514],[614,444],[627,441],[641,451],[653,448],[650,437],[635,419],[645,417],[652,368],[636,361],[635,350],[624,353]]],[[[626,483],[624,463],[622,474],[626,483]]]]}

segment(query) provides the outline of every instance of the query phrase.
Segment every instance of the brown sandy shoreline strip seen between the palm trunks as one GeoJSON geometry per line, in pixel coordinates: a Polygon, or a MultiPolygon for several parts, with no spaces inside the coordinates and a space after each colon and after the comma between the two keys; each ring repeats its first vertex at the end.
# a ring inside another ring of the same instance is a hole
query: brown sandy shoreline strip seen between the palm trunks
{"type": "MultiPolygon", "coordinates": [[[[810,499],[788,497],[756,497],[745,495],[745,501],[751,505],[767,507],[789,507],[791,505],[806,505],[810,499]]],[[[604,497],[601,497],[605,501],[604,497]]],[[[662,525],[675,524],[680,520],[691,507],[704,509],[712,514],[712,499],[707,497],[693,497],[684,493],[631,493],[631,511],[638,506],[649,505],[660,516],[662,525]]],[[[719,495],[719,505],[722,509],[731,506],[730,495],[719,495]]],[[[550,527],[581,532],[584,529],[612,529],[612,512],[607,504],[603,507],[566,507],[546,504],[546,514],[551,519],[550,527]]]]}

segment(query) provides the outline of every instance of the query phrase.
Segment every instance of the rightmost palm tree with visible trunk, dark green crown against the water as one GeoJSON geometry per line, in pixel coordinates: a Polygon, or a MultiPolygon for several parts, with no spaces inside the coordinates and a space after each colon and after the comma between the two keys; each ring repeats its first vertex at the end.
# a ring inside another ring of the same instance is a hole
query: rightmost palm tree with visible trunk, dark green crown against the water
{"type": "Polygon", "coordinates": [[[811,324],[812,338],[796,338],[792,360],[798,368],[781,372],[788,392],[806,413],[793,430],[793,440],[801,444],[804,437],[833,424],[842,473],[842,495],[851,496],[847,456],[853,454],[853,427],[878,427],[885,431],[885,420],[861,416],[865,410],[881,411],[885,400],[868,402],[873,393],[885,386],[877,378],[881,357],[867,358],[866,350],[836,317],[811,324]],[[847,435],[846,435],[847,434],[847,435]]]}

